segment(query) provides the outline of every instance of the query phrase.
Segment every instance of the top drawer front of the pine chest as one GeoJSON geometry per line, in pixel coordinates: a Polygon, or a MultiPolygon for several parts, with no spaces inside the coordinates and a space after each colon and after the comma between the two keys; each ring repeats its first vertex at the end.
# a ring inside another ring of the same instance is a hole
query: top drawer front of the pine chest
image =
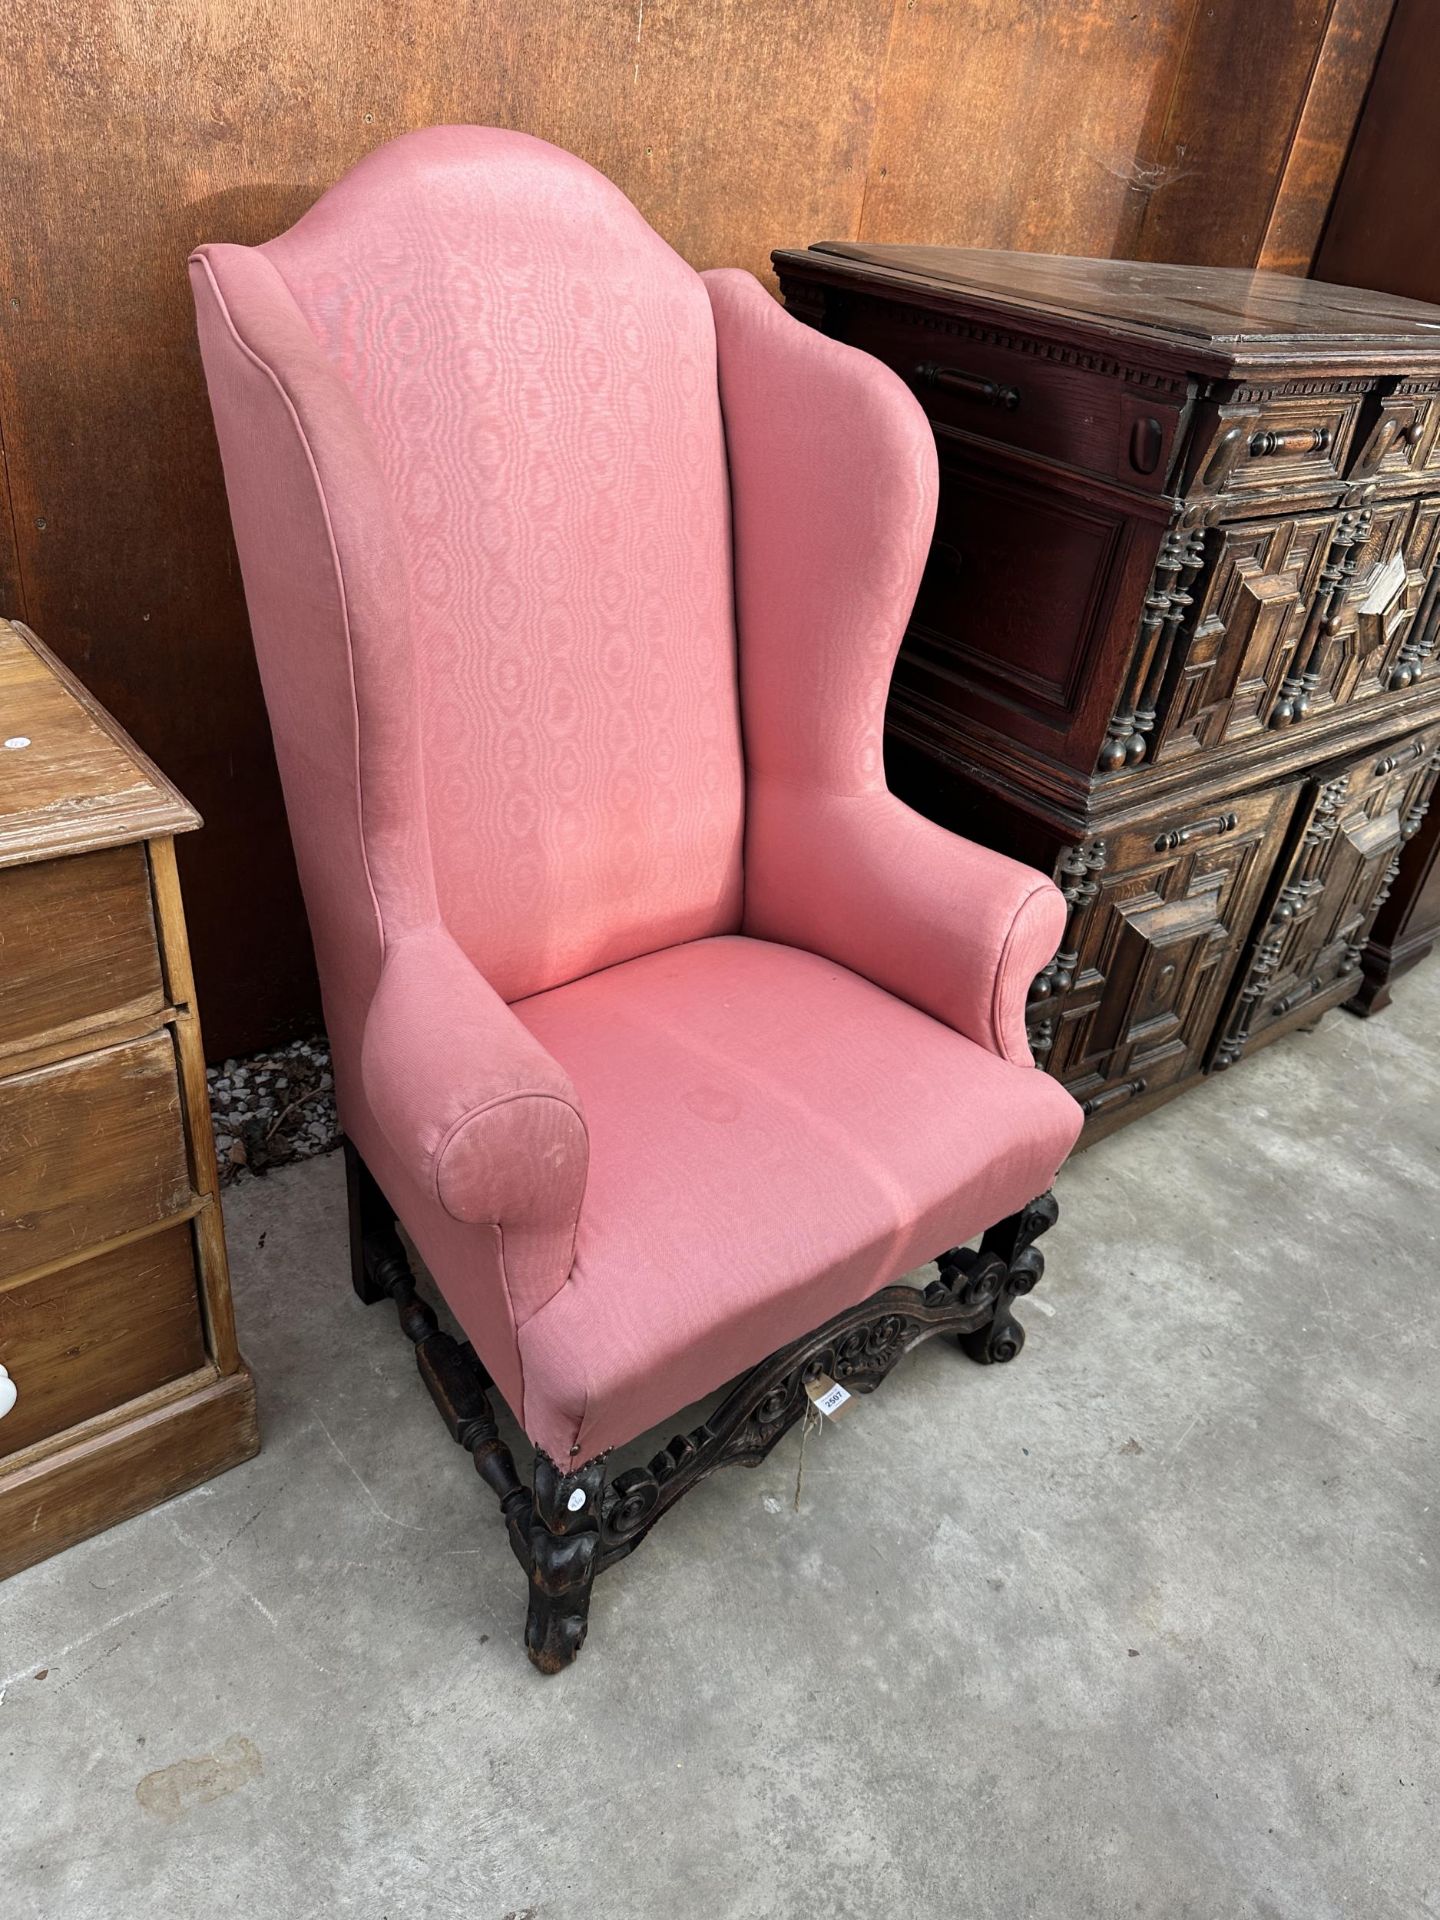
{"type": "Polygon", "coordinates": [[[165,1004],[144,847],[0,872],[6,1054],[165,1004]]]}

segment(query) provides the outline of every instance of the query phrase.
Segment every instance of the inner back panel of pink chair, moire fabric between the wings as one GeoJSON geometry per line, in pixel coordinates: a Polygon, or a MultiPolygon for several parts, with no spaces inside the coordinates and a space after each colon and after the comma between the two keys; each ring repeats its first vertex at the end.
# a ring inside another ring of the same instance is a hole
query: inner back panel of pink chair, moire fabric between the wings
{"type": "Polygon", "coordinates": [[[733,925],[699,276],[582,161],[459,127],[363,161],[261,252],[394,503],[445,925],[505,998],[733,925]]]}

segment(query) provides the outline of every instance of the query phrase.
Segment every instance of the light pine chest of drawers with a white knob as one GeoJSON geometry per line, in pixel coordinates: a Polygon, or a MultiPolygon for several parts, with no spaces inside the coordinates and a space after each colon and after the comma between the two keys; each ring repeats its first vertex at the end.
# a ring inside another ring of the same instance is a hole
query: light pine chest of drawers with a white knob
{"type": "Polygon", "coordinates": [[[0,620],[0,1576],[259,1448],[175,787],[0,620]]]}

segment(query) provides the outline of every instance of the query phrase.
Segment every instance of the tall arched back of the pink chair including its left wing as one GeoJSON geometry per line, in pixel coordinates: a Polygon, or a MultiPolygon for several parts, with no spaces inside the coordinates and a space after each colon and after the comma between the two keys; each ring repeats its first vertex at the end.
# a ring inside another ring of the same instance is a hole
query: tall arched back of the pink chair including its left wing
{"type": "Polygon", "coordinates": [[[438,912],[509,1000],[733,931],[699,275],[582,161],[474,127],[386,146],[194,275],[311,924],[346,948],[326,993],[372,973],[355,943],[378,964],[357,900],[386,939],[438,912]]]}

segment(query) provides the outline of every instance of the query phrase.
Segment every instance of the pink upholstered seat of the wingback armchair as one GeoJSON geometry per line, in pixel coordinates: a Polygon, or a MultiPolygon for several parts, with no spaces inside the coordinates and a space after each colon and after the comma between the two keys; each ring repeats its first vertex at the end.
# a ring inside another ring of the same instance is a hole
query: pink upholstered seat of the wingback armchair
{"type": "Polygon", "coordinates": [[[570,1281],[518,1332],[522,1419],[605,1452],[1014,1213],[1079,1108],[856,973],[724,935],[515,1004],[589,1131],[570,1281]]]}

